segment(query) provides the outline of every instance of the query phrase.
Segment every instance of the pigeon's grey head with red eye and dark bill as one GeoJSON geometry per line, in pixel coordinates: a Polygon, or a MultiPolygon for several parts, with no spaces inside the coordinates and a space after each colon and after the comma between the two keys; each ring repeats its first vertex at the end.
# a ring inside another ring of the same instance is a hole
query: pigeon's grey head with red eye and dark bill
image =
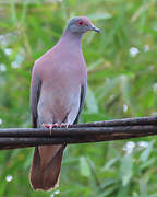
{"type": "Polygon", "coordinates": [[[100,32],[88,18],[75,16],[68,23],[65,31],[70,31],[72,34],[83,35],[87,31],[100,32]]]}

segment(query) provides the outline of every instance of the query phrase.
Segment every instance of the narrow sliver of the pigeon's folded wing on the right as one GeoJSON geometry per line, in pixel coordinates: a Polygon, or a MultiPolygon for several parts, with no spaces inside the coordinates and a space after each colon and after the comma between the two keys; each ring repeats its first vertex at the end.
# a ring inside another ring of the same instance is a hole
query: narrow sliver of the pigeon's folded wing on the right
{"type": "Polygon", "coordinates": [[[78,118],[80,118],[80,115],[82,113],[82,109],[84,107],[84,102],[85,102],[85,96],[86,96],[86,89],[87,89],[87,81],[85,81],[84,84],[82,84],[81,86],[81,97],[80,97],[80,109],[78,109],[78,114],[74,120],[74,124],[77,124],[78,123],[78,118]]]}

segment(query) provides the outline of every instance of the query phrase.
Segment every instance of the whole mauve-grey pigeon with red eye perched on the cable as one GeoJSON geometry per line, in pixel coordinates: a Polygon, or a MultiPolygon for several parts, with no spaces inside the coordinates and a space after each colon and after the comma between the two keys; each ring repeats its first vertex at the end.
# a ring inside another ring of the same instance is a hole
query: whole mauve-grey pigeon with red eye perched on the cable
{"type": "MultiPolygon", "coordinates": [[[[31,79],[33,128],[77,124],[82,113],[87,69],[81,39],[88,31],[100,32],[86,16],[75,16],[58,43],[34,63],[31,79]]],[[[51,190],[59,184],[64,144],[35,147],[29,172],[35,190],[51,190]]]]}

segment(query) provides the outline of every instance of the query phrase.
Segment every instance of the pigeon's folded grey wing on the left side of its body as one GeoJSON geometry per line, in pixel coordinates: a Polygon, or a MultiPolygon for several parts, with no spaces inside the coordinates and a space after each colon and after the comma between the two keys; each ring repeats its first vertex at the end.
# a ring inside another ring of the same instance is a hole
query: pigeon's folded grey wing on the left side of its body
{"type": "Polygon", "coordinates": [[[41,80],[39,74],[33,70],[31,82],[31,112],[32,112],[32,125],[33,128],[37,127],[37,105],[40,96],[41,80]]]}

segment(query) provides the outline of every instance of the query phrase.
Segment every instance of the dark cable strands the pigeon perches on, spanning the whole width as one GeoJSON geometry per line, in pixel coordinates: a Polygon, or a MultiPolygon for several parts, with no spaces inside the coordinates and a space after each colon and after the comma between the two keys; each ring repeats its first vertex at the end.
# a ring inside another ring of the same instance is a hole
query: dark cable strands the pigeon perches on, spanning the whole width
{"type": "Polygon", "coordinates": [[[157,135],[157,117],[126,118],[53,128],[0,129],[0,149],[122,140],[157,135]]]}

